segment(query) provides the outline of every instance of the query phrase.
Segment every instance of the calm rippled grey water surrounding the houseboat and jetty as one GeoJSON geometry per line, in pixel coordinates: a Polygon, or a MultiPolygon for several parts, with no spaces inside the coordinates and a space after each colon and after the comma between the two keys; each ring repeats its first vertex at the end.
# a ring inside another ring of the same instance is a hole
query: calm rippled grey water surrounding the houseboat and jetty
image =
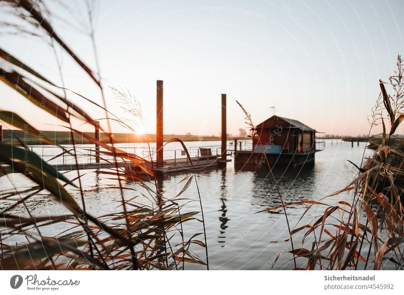
{"type": "MultiPolygon", "coordinates": [[[[220,142],[187,142],[187,146],[219,145],[220,142]]],[[[126,144],[127,146],[128,144],[126,144]]],[[[136,144],[134,144],[136,145],[136,144]]],[[[141,145],[138,145],[141,147],[141,145]]],[[[173,149],[178,145],[174,144],[173,149]]],[[[348,163],[350,160],[357,165],[361,164],[365,143],[357,143],[351,147],[350,142],[337,144],[336,140],[326,140],[325,150],[316,154],[313,167],[289,169],[277,169],[274,171],[278,181],[280,192],[285,203],[301,200],[318,201],[324,196],[345,187],[358,174],[357,169],[348,163]],[[333,142],[333,144],[331,144],[333,142]]],[[[372,151],[365,150],[365,157],[372,155],[372,151]]],[[[116,185],[115,180],[109,176],[93,173],[94,171],[81,171],[85,187],[85,199],[87,209],[95,216],[118,211],[117,200],[119,192],[108,188],[116,185]]],[[[68,172],[68,177],[73,178],[76,172],[68,172]]],[[[183,187],[184,182],[178,184],[189,173],[177,173],[167,175],[162,186],[167,198],[175,196],[183,187]]],[[[15,183],[21,187],[27,185],[27,180],[17,174],[14,175],[15,183]]],[[[205,213],[207,239],[209,247],[209,262],[211,269],[271,269],[277,253],[283,252],[278,258],[273,269],[291,269],[290,242],[286,219],[282,209],[271,212],[257,213],[266,208],[279,206],[279,196],[274,189],[274,182],[268,171],[236,171],[234,163],[229,162],[225,169],[210,169],[196,174],[200,195],[205,213]]],[[[3,178],[0,180],[2,191],[8,184],[3,178]]],[[[140,189],[136,183],[126,183],[127,187],[140,189]]],[[[72,192],[77,199],[79,193],[72,192]]],[[[134,192],[130,192],[134,193],[134,192]]],[[[130,196],[127,194],[127,198],[130,196]]],[[[181,195],[182,198],[197,200],[196,185],[192,185],[181,195]]],[[[326,199],[324,202],[333,205],[340,200],[349,200],[349,196],[341,194],[326,199]]],[[[147,202],[146,200],[144,200],[147,202]]],[[[31,201],[35,207],[35,215],[63,214],[64,209],[52,201],[49,196],[31,201]]],[[[0,204],[6,207],[7,204],[0,204]]],[[[187,205],[187,211],[200,211],[198,202],[187,205]]],[[[306,205],[296,205],[287,208],[287,214],[291,228],[295,228],[301,214],[305,212],[306,205]]],[[[23,212],[23,208],[16,209],[23,212]]],[[[319,218],[322,215],[320,208],[313,208],[298,223],[299,226],[319,218]]],[[[44,234],[52,235],[64,230],[63,224],[48,228],[44,234]]],[[[194,232],[203,231],[201,223],[184,223],[184,231],[188,236],[194,232]]],[[[199,236],[203,240],[203,236],[199,236]]],[[[311,248],[311,244],[302,245],[301,236],[294,239],[295,248],[311,248]]],[[[201,257],[204,250],[196,245],[193,249],[201,257]]],[[[299,261],[304,266],[306,259],[299,261]]],[[[199,265],[189,264],[186,269],[201,269],[199,265]]]]}

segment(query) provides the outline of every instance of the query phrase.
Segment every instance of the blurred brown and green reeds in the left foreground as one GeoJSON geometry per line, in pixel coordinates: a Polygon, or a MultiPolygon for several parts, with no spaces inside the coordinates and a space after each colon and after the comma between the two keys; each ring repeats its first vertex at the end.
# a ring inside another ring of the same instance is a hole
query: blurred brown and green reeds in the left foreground
{"type": "MultiPolygon", "coordinates": [[[[115,180],[115,185],[109,186],[119,199],[118,211],[112,211],[103,216],[93,216],[86,208],[86,191],[83,188],[82,175],[78,166],[78,151],[73,145],[58,145],[55,140],[44,136],[22,116],[7,110],[0,110],[0,120],[13,128],[24,130],[27,134],[40,138],[46,144],[57,145],[63,154],[75,158],[73,179],[58,172],[53,166],[32,152],[24,138],[16,142],[0,143],[0,162],[2,178],[13,187],[2,190],[0,196],[0,269],[183,269],[185,263],[206,265],[206,258],[199,258],[192,252],[193,247],[207,248],[204,230],[192,233],[186,237],[183,224],[189,221],[201,222],[196,218],[199,212],[187,212],[189,200],[179,199],[186,188],[196,181],[190,176],[183,180],[183,189],[174,199],[165,198],[158,185],[153,169],[145,159],[131,153],[119,150],[114,146],[110,122],[118,122],[133,130],[127,122],[112,114],[106,106],[105,94],[98,62],[94,71],[80,54],[76,53],[52,26],[48,19],[51,14],[41,1],[7,0],[0,7],[16,16],[20,22],[6,24],[6,28],[17,28],[20,33],[44,39],[49,46],[61,50],[66,57],[89,77],[96,85],[98,96],[102,103],[65,88],[39,74],[29,63],[21,61],[12,52],[0,48],[0,58],[3,60],[1,82],[10,86],[19,95],[25,97],[27,104],[56,117],[70,133],[78,134],[89,142],[99,144],[102,160],[112,163],[125,161],[142,170],[144,176],[116,166],[115,168],[98,173],[108,175],[115,180]],[[21,24],[21,25],[20,25],[21,24]],[[22,27],[21,27],[22,26],[22,27]],[[75,96],[79,103],[74,103],[69,97],[75,96]],[[103,118],[97,119],[90,115],[80,101],[89,103],[98,113],[104,113],[103,118]],[[72,120],[81,120],[83,124],[94,125],[95,121],[104,120],[108,128],[102,128],[107,134],[108,142],[98,142],[94,137],[73,128],[72,120]],[[14,182],[13,173],[24,177],[24,186],[14,182]],[[138,181],[139,190],[127,185],[127,180],[138,181]],[[67,214],[38,216],[30,207],[33,198],[52,198],[64,208],[67,214]],[[143,198],[149,200],[137,202],[143,198]],[[19,209],[19,210],[16,210],[19,209]],[[46,227],[57,227],[63,223],[68,229],[64,232],[48,236],[46,227]],[[191,247],[192,246],[192,247],[191,247]]],[[[89,23],[92,25],[91,9],[88,10],[89,23]]],[[[71,21],[71,20],[67,20],[71,21]]],[[[89,37],[94,42],[94,31],[89,30],[89,37]]],[[[96,48],[94,46],[95,60],[96,48]]],[[[56,56],[56,60],[58,57],[56,56]]],[[[61,69],[59,65],[59,69],[61,69]]],[[[42,122],[43,123],[43,122],[42,122]]],[[[74,136],[71,136],[74,138],[74,136]]],[[[177,140],[180,141],[181,140],[177,140]]],[[[184,145],[183,145],[184,146],[184,145]]],[[[182,184],[181,184],[182,185],[182,184]]],[[[197,184],[196,184],[197,185],[197,184]]],[[[182,198],[182,196],[181,196],[182,198]]],[[[200,198],[199,198],[200,201],[200,198]]],[[[206,251],[207,253],[207,251],[206,251]]]]}

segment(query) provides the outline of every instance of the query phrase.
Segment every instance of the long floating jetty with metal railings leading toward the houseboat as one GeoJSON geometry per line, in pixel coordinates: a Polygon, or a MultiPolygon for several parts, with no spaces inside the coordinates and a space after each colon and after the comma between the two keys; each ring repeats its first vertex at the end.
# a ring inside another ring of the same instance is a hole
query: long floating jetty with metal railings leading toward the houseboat
{"type": "MultiPolygon", "coordinates": [[[[232,155],[233,143],[227,147],[227,155],[232,155]]],[[[241,147],[241,143],[240,143],[241,147]]],[[[183,150],[165,150],[163,162],[158,165],[156,148],[151,147],[145,149],[142,147],[118,146],[118,149],[125,151],[129,155],[138,155],[145,159],[145,167],[156,174],[174,173],[179,171],[197,172],[204,169],[209,169],[223,165],[231,160],[227,157],[222,159],[220,146],[195,146],[188,148],[186,156],[183,150]],[[142,150],[143,149],[143,150],[142,150]]],[[[43,161],[54,167],[57,171],[72,171],[72,170],[108,170],[114,168],[123,168],[128,174],[145,174],[138,165],[127,160],[127,157],[116,157],[104,155],[107,152],[103,147],[89,147],[87,145],[78,146],[72,150],[72,154],[63,153],[60,146],[29,146],[29,149],[36,153],[43,161]],[[76,164],[76,155],[78,163],[76,164]]],[[[12,167],[2,165],[9,173],[12,173],[12,167]]]]}

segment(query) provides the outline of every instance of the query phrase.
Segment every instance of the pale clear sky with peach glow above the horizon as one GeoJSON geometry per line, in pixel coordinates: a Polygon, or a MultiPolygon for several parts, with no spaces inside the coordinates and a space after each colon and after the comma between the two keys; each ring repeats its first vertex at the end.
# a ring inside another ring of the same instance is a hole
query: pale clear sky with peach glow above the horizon
{"type": "MultiPolygon", "coordinates": [[[[62,39],[96,69],[91,40],[83,32],[88,27],[83,3],[48,2],[48,8],[62,39]]],[[[127,118],[110,87],[132,93],[144,119],[130,124],[139,132],[155,133],[160,79],[165,134],[219,135],[221,93],[227,94],[231,134],[247,127],[236,100],[256,125],[272,116],[275,106],[277,115],[318,131],[367,134],[378,81],[387,80],[404,51],[403,1],[117,0],[95,1],[91,9],[107,106],[127,118]]],[[[12,20],[10,12],[0,14],[1,22],[12,20]]],[[[0,44],[61,83],[55,52],[46,38],[3,26],[0,44]]],[[[98,89],[71,58],[59,49],[57,55],[67,88],[101,102],[98,89]]],[[[105,117],[79,97],[71,99],[93,117],[105,117]]],[[[36,110],[4,84],[0,102],[2,109],[17,112],[39,129],[63,130],[60,121],[36,110]]],[[[80,122],[75,125],[88,128],[80,122]]],[[[113,131],[125,132],[116,125],[113,131]]]]}

